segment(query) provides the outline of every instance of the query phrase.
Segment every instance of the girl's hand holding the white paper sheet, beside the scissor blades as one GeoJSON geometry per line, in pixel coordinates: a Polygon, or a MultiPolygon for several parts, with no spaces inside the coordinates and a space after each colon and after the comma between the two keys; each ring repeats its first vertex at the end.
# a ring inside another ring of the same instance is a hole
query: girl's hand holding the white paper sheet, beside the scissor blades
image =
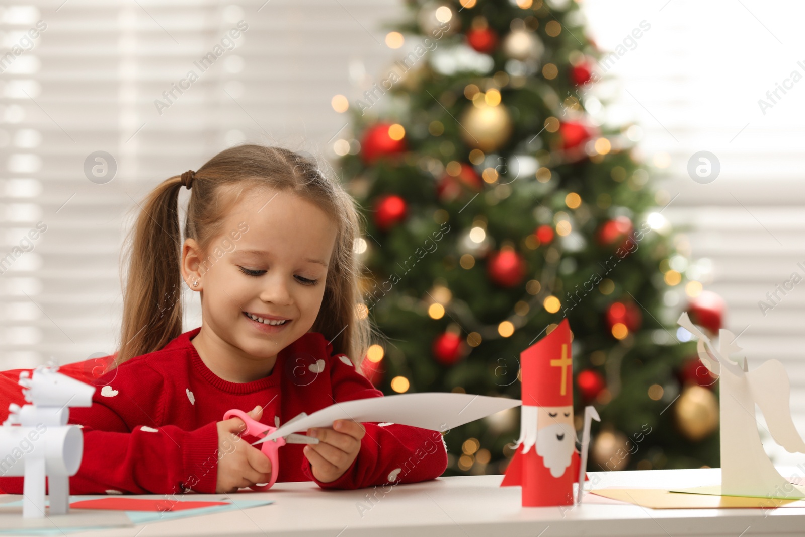
{"type": "Polygon", "coordinates": [[[361,449],[366,429],[353,419],[336,419],[332,427],[308,429],[308,436],[319,439],[303,449],[310,461],[313,477],[322,483],[336,481],[344,475],[361,449]]]}

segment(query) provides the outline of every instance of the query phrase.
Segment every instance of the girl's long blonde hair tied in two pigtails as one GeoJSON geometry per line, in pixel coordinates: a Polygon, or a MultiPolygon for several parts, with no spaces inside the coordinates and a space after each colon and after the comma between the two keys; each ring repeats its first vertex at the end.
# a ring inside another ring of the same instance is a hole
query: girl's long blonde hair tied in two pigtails
{"type": "MultiPolygon", "coordinates": [[[[244,192],[261,187],[293,192],[315,204],[337,225],[324,298],[311,330],[332,341],[334,353],[345,353],[360,366],[375,331],[365,315],[362,265],[354,250],[363,221],[353,197],[322,173],[314,159],[282,147],[259,145],[221,151],[192,180],[185,237],[195,239],[208,252],[213,240],[225,233],[225,214],[244,192]]],[[[162,349],[182,333],[180,188],[184,188],[181,176],[159,184],[142,203],[127,237],[130,246],[123,251],[130,255],[117,365],[162,349]]]]}

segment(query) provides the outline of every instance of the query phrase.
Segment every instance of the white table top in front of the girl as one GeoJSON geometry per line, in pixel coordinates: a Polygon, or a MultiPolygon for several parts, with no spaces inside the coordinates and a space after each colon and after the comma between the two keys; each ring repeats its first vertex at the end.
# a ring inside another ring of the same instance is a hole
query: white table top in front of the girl
{"type": "MultiPolygon", "coordinates": [[[[780,469],[792,475],[796,469],[780,469]]],[[[799,475],[803,471],[799,470],[799,475]]],[[[596,488],[673,488],[712,485],[720,469],[592,472],[596,488]]],[[[277,483],[270,492],[238,494],[270,499],[270,506],[185,518],[147,527],[73,533],[81,537],[157,537],[192,535],[293,535],[294,537],[558,537],[560,535],[805,535],[805,508],[651,510],[584,495],[576,508],[520,506],[520,487],[500,487],[501,475],[440,477],[382,489],[325,491],[312,481],[277,483]],[[376,494],[369,502],[367,496],[376,494]],[[362,516],[360,503],[366,507],[362,516]],[[142,531],[142,533],[140,533],[142,531]]],[[[138,498],[138,497],[133,497],[138,498]]],[[[151,496],[151,498],[154,498],[151,496]]],[[[220,499],[221,494],[191,494],[188,499],[220,499]]]]}

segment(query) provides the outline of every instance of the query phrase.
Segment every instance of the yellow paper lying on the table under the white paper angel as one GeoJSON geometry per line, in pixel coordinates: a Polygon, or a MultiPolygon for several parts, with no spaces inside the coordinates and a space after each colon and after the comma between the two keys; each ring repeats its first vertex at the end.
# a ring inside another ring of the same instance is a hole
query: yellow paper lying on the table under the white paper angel
{"type": "Polygon", "coordinates": [[[686,494],[664,489],[597,489],[592,494],[632,503],[651,509],[747,509],[774,507],[805,507],[805,500],[775,500],[772,498],[742,498],[686,494]]]}

